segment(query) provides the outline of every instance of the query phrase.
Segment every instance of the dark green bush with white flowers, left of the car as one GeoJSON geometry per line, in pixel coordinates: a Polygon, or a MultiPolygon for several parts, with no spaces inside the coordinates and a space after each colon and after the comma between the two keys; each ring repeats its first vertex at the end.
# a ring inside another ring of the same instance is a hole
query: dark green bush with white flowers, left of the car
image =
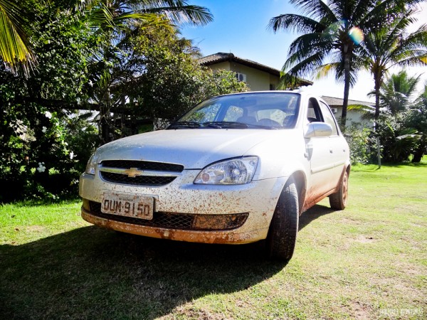
{"type": "Polygon", "coordinates": [[[0,202],[77,196],[78,177],[99,145],[95,127],[72,112],[2,102],[0,202]]]}

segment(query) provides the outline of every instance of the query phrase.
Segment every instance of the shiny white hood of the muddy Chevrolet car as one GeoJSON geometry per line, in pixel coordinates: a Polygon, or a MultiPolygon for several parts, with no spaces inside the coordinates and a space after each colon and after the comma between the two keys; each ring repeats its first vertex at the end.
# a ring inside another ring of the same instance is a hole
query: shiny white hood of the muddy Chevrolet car
{"type": "Polygon", "coordinates": [[[102,160],[142,160],[181,164],[185,169],[203,169],[208,164],[247,154],[288,130],[177,129],[148,132],[119,139],[97,150],[102,160]]]}

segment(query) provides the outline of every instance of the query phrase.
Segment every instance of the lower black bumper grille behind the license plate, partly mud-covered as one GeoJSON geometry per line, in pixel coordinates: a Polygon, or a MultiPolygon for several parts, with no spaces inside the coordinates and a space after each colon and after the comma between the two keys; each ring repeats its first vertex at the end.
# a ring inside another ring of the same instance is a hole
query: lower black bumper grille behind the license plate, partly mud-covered
{"type": "Polygon", "coordinates": [[[146,225],[148,227],[178,229],[178,230],[231,230],[239,228],[248,218],[248,213],[226,215],[193,215],[186,213],[155,212],[152,220],[111,215],[101,212],[101,203],[89,201],[90,214],[99,218],[131,223],[132,225],[146,225]]]}

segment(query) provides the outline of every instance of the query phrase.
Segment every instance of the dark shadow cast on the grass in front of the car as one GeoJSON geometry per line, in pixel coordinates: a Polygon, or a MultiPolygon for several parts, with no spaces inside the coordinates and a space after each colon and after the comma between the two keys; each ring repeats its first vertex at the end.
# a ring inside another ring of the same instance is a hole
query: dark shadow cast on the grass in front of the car
{"type": "Polygon", "coordinates": [[[154,319],[199,297],[247,289],[285,265],[265,260],[259,243],[203,245],[79,228],[0,246],[0,318],[154,319]]]}

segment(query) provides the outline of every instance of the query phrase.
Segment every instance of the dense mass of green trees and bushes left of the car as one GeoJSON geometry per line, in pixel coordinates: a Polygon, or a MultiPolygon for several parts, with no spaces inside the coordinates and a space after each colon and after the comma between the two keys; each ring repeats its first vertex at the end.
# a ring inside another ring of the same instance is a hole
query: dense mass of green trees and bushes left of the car
{"type": "Polygon", "coordinates": [[[197,63],[175,23],[204,24],[211,14],[186,1],[28,0],[19,9],[32,13],[23,22],[38,64],[19,73],[0,56],[0,183],[9,186],[0,202],[75,196],[100,144],[209,95],[247,90],[233,73],[197,63]],[[92,110],[75,110],[83,108],[92,110]]]}

